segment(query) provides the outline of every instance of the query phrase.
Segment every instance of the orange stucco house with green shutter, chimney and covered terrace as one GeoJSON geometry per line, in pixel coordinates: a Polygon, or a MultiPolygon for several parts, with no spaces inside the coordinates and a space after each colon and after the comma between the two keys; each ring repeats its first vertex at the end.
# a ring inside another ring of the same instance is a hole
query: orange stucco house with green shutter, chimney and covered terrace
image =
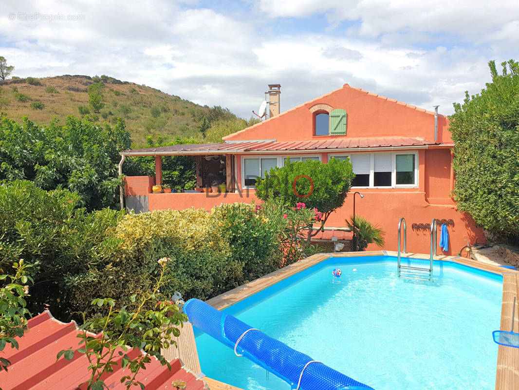
{"type": "Polygon", "coordinates": [[[352,214],[352,194],[359,191],[364,198],[357,198],[356,214],[385,230],[387,250],[397,249],[401,217],[407,222],[408,252],[429,253],[432,219],[447,225],[450,243],[445,254],[457,254],[466,240],[484,241],[482,229],[470,215],[457,211],[451,197],[454,145],[445,116],[348,84],[282,113],[279,97],[279,84],[269,85],[270,118],[224,137],[220,144],[122,151],[121,164],[126,156],[155,156],[156,175],[126,177],[121,205],[123,197],[126,207],[136,211],[210,210],[221,203],[252,202],[257,200],[256,176],[282,166],[286,157],[324,163],[349,158],[357,176],[327,226],[344,229],[345,218],[352,214]],[[196,159],[199,191],[216,181],[226,183],[228,192],[152,193],[152,185],[161,183],[161,158],[166,155],[196,159]]]}

